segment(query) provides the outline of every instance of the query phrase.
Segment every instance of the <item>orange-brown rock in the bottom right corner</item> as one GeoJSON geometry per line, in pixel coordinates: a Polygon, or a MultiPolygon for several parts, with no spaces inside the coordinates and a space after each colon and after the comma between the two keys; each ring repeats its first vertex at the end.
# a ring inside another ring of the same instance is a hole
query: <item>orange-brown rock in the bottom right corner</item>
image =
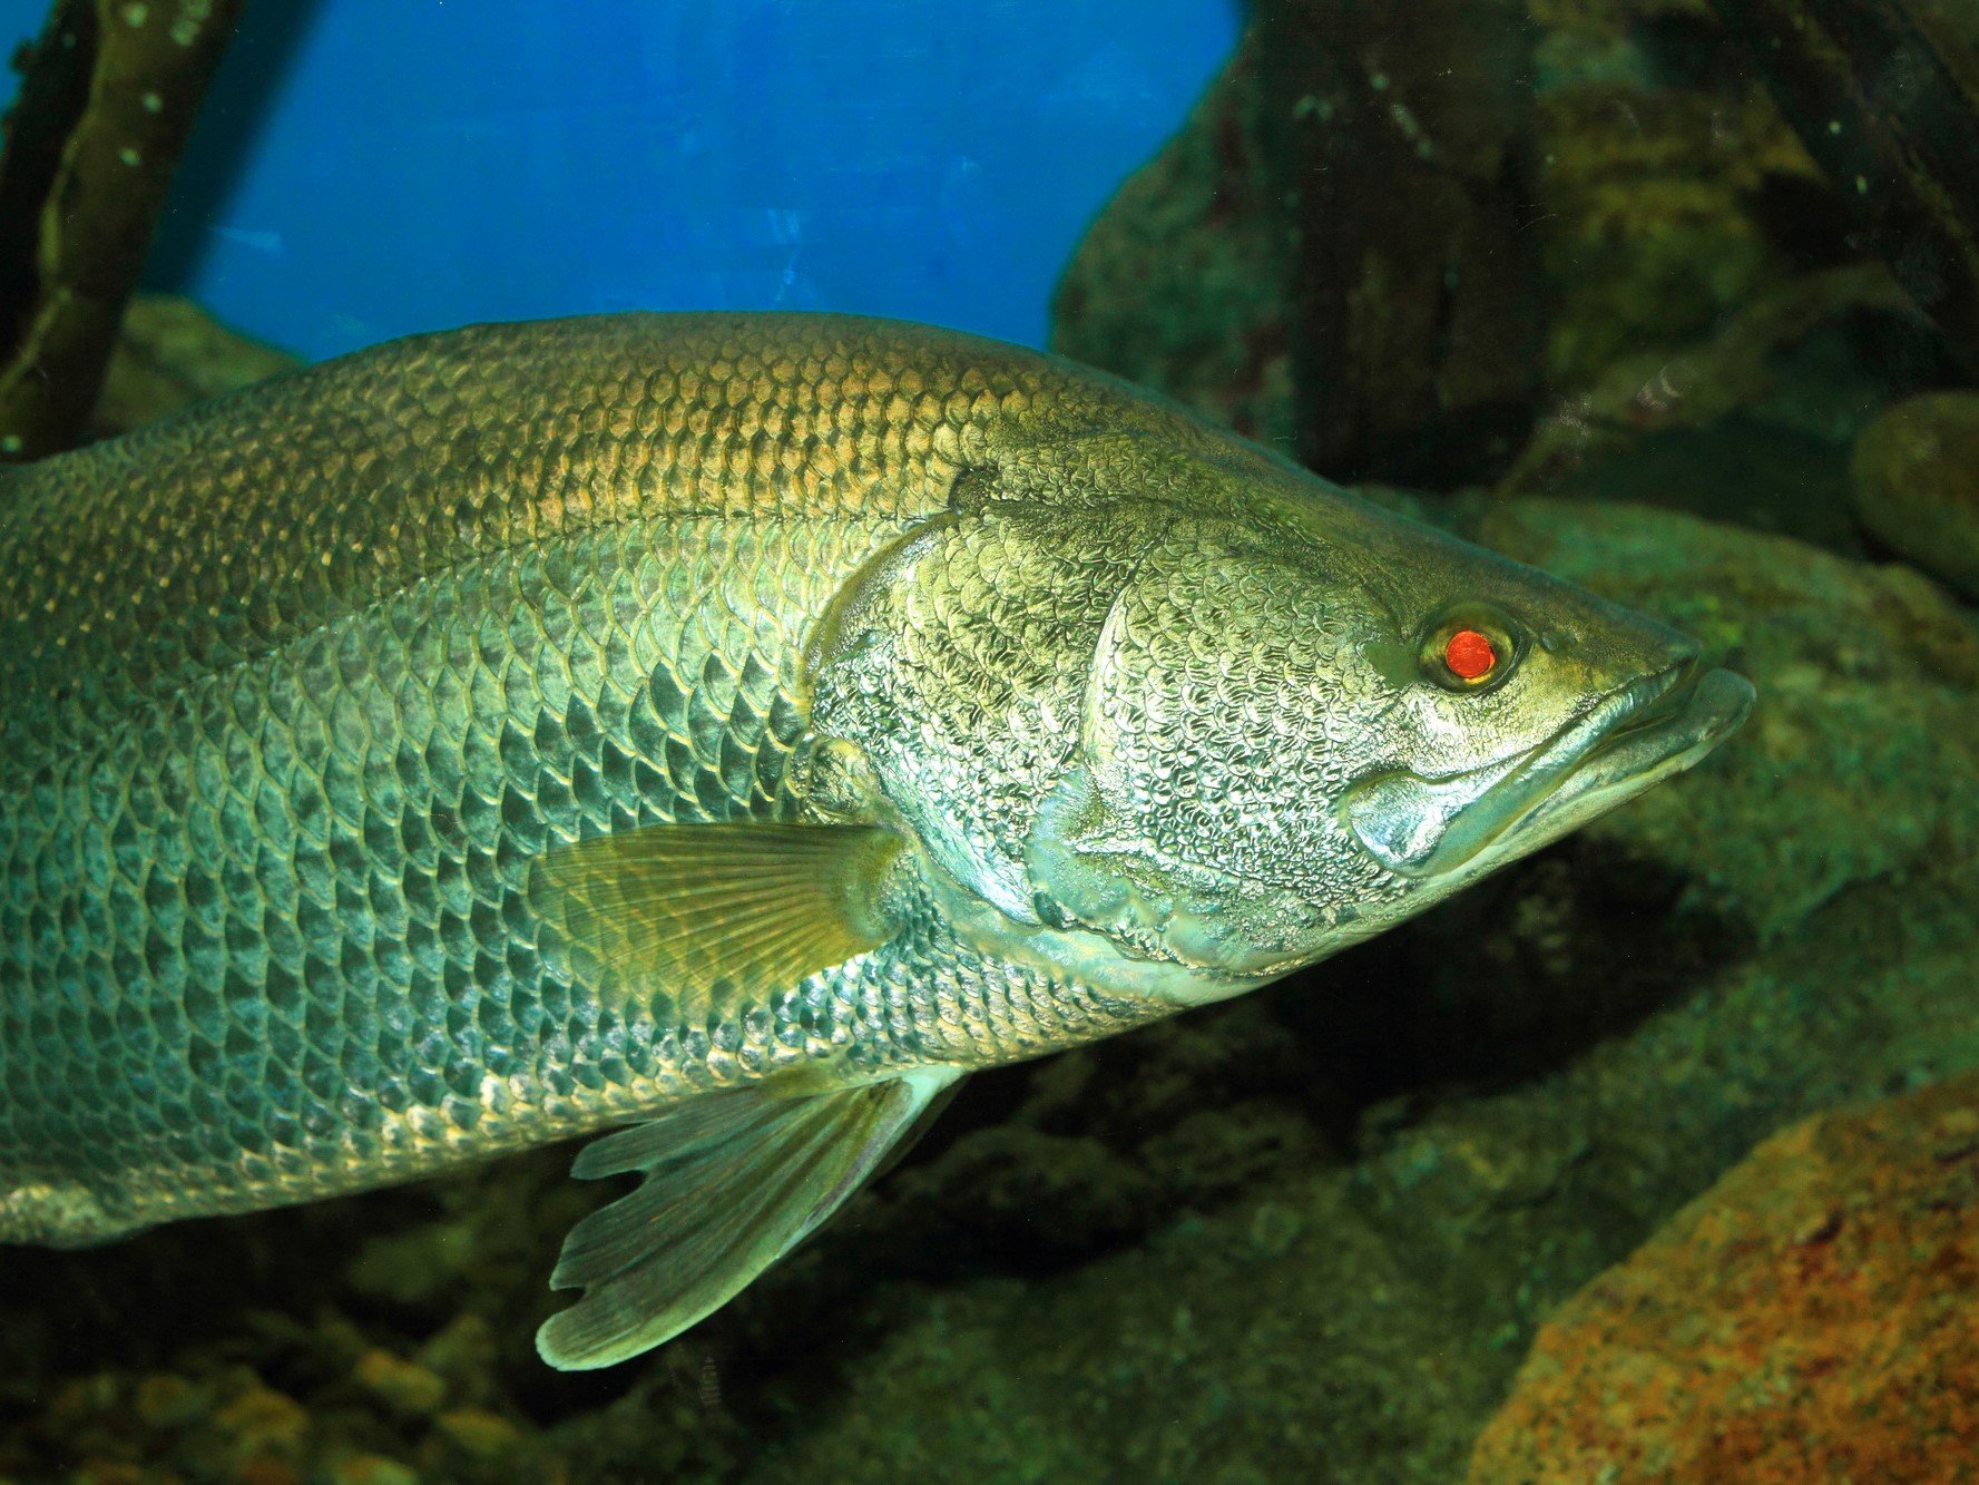
{"type": "Polygon", "coordinates": [[[1540,1329],[1470,1479],[1963,1477],[1975,1313],[1979,1077],[1809,1119],[1540,1329]]]}

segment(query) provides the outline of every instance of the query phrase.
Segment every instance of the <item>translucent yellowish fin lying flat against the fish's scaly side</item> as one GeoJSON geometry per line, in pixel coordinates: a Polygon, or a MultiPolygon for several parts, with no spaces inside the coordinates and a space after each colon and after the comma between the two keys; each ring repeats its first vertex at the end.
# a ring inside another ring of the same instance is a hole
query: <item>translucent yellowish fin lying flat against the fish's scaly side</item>
{"type": "Polygon", "coordinates": [[[689,1026],[879,948],[900,838],[877,826],[645,826],[542,855],[530,903],[600,994],[689,1026]]]}

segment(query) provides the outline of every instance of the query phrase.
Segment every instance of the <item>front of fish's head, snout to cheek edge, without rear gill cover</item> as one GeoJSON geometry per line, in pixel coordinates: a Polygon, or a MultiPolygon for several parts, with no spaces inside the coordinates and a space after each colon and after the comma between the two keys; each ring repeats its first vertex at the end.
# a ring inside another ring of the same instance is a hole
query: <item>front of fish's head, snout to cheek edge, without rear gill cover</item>
{"type": "Polygon", "coordinates": [[[1749,703],[1643,614],[1344,493],[1251,491],[1122,584],[1031,881],[1217,998],[1688,768],[1749,703]]]}

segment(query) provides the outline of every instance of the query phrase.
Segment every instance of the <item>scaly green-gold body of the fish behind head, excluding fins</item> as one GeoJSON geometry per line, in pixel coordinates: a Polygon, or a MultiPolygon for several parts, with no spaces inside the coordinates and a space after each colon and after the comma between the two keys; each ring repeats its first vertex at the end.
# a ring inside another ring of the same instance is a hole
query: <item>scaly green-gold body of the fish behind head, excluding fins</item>
{"type": "Polygon", "coordinates": [[[6,477],[0,1238],[398,1180],[821,1047],[1122,1020],[1039,1016],[1051,976],[932,919],[732,1028],[538,942],[550,845],[794,814],[807,628],[940,509],[980,408],[1049,396],[875,335],[491,327],[6,477]]]}

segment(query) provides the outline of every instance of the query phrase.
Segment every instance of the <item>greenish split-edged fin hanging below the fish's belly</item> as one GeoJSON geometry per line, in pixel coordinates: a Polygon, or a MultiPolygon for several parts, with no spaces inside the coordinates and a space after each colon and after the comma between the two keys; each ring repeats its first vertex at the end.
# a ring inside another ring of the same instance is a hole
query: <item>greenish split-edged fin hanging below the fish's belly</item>
{"type": "Polygon", "coordinates": [[[958,1077],[922,1067],[829,1093],[710,1093],[586,1146],[578,1178],[645,1182],[570,1230],[550,1287],[584,1299],[544,1323],[536,1350],[562,1370],[612,1366],[720,1309],[859,1190],[958,1077]]]}

